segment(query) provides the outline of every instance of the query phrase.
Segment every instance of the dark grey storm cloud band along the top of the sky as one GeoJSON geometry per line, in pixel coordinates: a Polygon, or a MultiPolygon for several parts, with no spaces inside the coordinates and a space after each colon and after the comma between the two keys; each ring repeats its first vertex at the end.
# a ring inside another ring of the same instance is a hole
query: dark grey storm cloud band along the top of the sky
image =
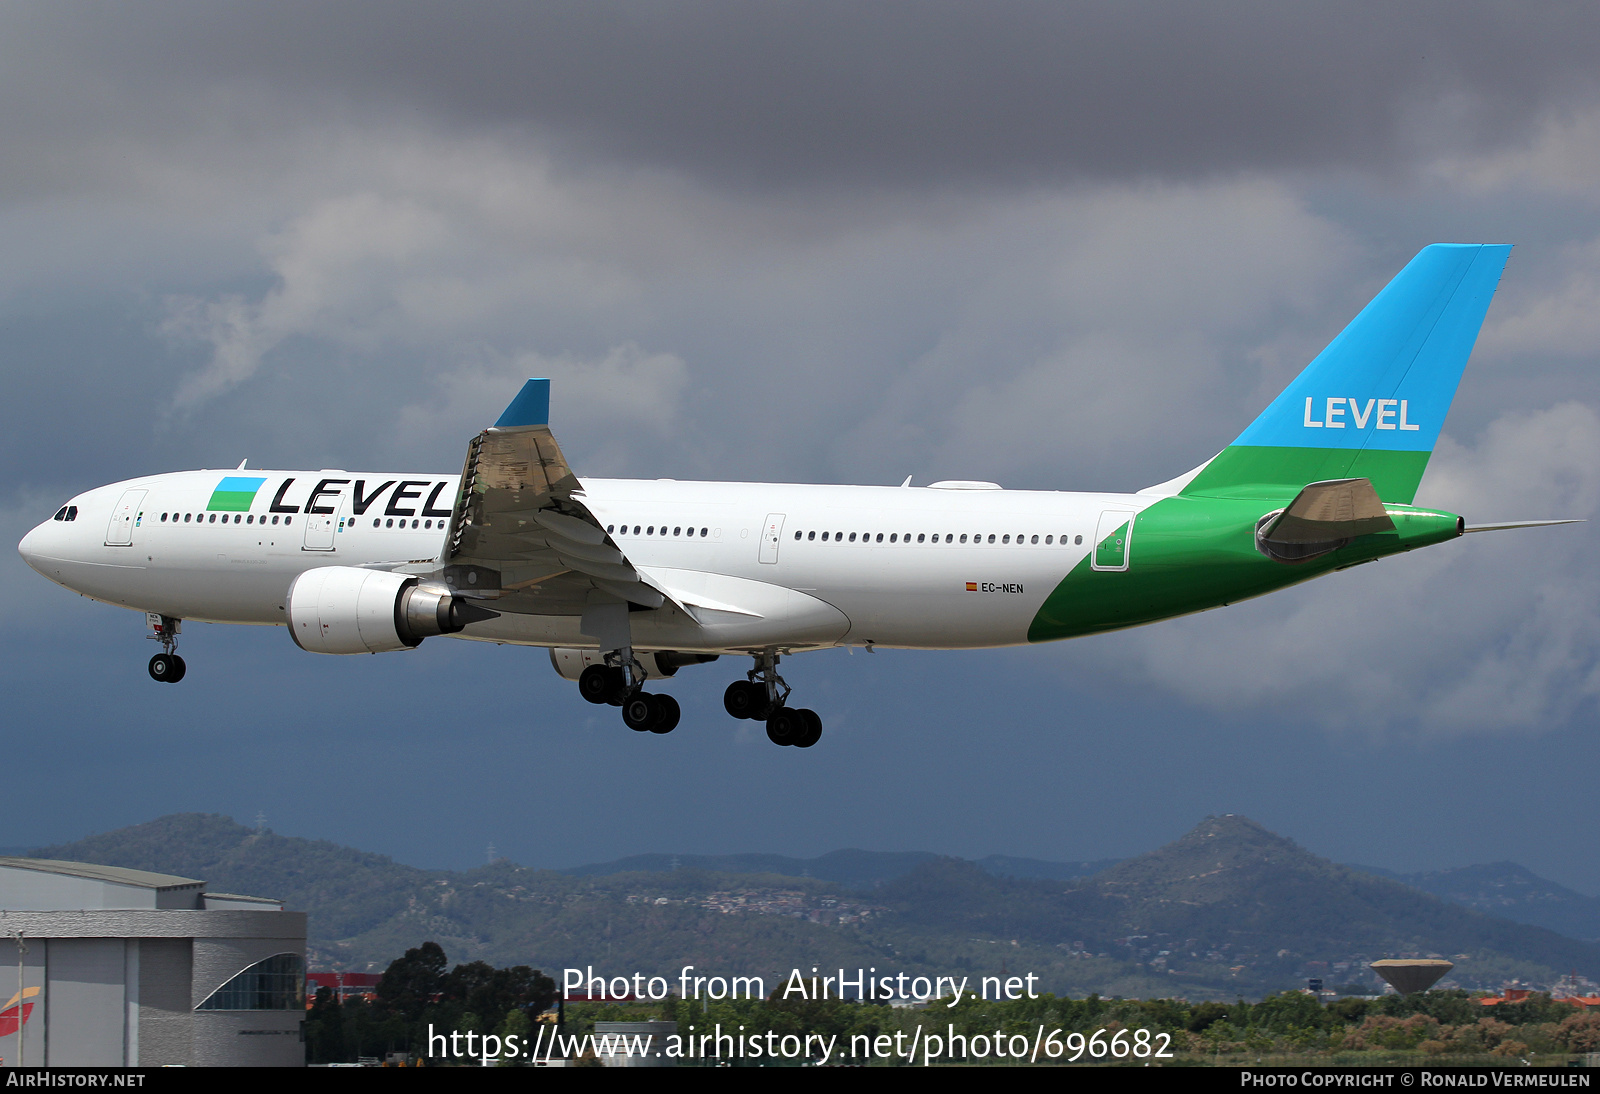
{"type": "Polygon", "coordinates": [[[1517,142],[1592,94],[1600,56],[1590,5],[278,2],[5,22],[56,99],[40,117],[379,106],[758,184],[1386,170],[1517,142]]]}

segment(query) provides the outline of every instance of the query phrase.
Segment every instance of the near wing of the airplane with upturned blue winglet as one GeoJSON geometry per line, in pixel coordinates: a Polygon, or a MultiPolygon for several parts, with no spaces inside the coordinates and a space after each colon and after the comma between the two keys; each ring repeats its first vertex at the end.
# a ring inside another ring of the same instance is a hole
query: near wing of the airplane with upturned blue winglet
{"type": "Polygon", "coordinates": [[[666,603],[584,504],[582,485],[550,433],[550,381],[530,379],[472,438],[440,558],[458,592],[496,611],[581,616],[589,595],[666,603]]]}

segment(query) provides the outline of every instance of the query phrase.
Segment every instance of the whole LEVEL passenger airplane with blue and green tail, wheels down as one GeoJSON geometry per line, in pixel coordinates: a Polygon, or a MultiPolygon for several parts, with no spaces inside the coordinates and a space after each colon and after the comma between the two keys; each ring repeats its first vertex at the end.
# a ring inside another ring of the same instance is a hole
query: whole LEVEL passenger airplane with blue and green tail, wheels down
{"type": "Polygon", "coordinates": [[[808,749],[790,654],[1075,638],[1259,597],[1466,533],[1413,504],[1510,254],[1424,248],[1218,456],[1134,494],[579,478],[530,379],[461,475],[190,470],[72,497],[19,544],[85,597],[146,613],[154,680],[182,621],[286,627],[322,654],[451,635],[544,646],[584,699],[670,733],[646,683],[722,656],[736,718],[808,749]]]}

